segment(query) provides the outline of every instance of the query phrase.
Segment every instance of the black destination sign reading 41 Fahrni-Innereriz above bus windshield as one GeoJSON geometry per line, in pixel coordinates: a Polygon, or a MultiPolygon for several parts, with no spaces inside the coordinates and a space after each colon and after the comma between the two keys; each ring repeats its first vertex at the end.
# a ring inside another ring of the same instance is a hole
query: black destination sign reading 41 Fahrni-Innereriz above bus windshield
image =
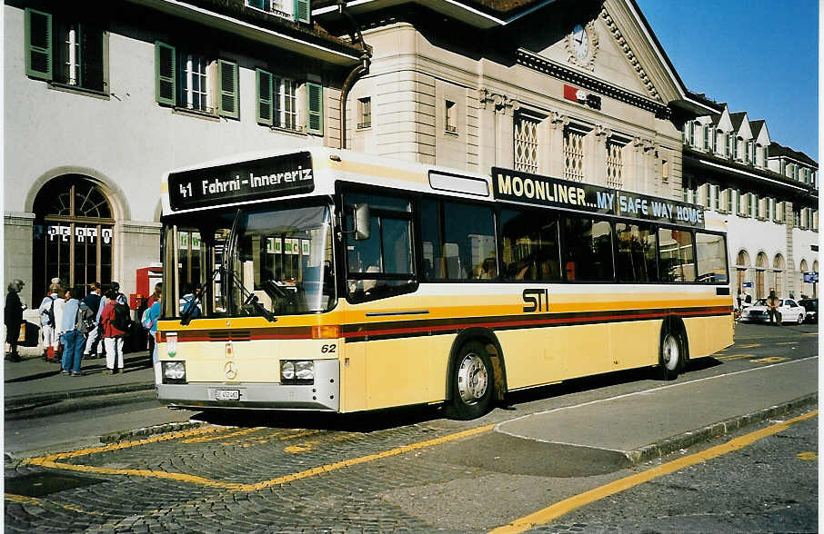
{"type": "Polygon", "coordinates": [[[168,186],[169,205],[178,211],[311,193],[315,177],[311,154],[299,152],[170,173],[168,186]]]}

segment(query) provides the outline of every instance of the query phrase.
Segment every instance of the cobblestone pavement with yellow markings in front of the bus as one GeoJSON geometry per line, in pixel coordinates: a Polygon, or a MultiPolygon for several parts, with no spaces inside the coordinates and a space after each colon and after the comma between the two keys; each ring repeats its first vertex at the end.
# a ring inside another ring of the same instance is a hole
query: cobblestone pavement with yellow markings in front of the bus
{"type": "Polygon", "coordinates": [[[425,518],[381,495],[482,473],[435,463],[422,469],[417,450],[397,449],[453,434],[428,424],[372,432],[206,426],[72,455],[6,460],[5,529],[427,531],[433,526],[425,518]],[[323,466],[327,471],[310,471],[323,466]],[[15,479],[55,473],[94,483],[38,497],[9,494],[15,479]],[[179,476],[164,478],[168,473],[179,476]]]}

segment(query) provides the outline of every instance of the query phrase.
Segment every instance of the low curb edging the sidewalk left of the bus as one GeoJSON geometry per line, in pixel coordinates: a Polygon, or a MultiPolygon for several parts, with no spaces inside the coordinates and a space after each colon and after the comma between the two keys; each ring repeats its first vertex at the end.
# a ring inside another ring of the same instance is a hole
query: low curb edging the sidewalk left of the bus
{"type": "Polygon", "coordinates": [[[154,382],[91,391],[66,391],[25,399],[6,400],[5,420],[31,419],[132,402],[155,401],[156,399],[154,382]]]}

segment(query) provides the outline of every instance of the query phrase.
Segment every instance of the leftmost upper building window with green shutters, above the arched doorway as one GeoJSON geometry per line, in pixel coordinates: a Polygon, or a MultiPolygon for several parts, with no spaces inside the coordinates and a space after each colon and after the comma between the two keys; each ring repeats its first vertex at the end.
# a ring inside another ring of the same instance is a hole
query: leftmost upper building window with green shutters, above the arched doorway
{"type": "Polygon", "coordinates": [[[103,48],[104,32],[93,23],[25,9],[25,74],[56,84],[105,91],[103,48]]]}

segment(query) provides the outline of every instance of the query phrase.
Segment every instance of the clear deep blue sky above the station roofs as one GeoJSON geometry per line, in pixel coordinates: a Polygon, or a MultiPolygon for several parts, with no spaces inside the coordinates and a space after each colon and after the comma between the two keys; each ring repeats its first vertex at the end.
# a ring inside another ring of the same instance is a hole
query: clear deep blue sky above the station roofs
{"type": "Polygon", "coordinates": [[[819,161],[817,0],[637,0],[688,90],[819,161]]]}

